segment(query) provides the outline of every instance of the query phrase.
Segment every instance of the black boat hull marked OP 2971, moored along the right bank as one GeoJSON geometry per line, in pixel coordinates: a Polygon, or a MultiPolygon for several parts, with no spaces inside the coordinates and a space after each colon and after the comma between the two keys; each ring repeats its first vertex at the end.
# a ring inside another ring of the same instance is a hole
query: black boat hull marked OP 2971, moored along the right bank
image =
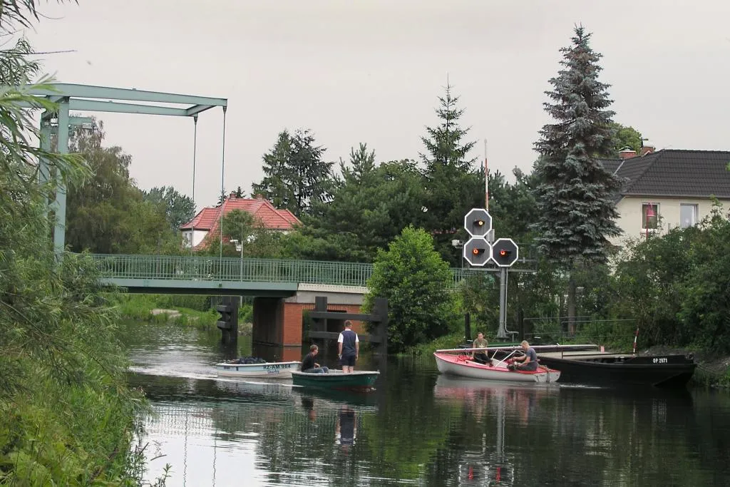
{"type": "Polygon", "coordinates": [[[681,356],[558,358],[539,356],[540,364],[560,369],[561,383],[685,387],[696,364],[681,356]],[[656,360],[656,361],[655,361],[656,360]]]}

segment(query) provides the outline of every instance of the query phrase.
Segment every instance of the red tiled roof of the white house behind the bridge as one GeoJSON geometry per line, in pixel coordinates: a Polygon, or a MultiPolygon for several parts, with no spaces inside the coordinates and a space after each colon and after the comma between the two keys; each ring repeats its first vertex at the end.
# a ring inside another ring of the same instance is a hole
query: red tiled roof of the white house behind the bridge
{"type": "Polygon", "coordinates": [[[191,221],[180,226],[180,230],[207,230],[203,242],[199,246],[205,246],[206,240],[212,234],[218,231],[218,223],[220,222],[220,211],[223,215],[233,210],[243,210],[249,212],[258,220],[264,228],[269,230],[291,230],[294,225],[301,224],[299,218],[293,215],[289,210],[277,210],[274,205],[266,199],[248,199],[237,198],[234,195],[228,196],[223,204],[218,207],[205,207],[195,215],[191,221]]]}

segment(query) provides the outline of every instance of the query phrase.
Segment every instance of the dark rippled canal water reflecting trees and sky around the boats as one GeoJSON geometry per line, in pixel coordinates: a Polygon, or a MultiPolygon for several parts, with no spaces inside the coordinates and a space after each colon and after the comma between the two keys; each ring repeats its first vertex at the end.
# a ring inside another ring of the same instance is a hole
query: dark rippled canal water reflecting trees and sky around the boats
{"type": "Polygon", "coordinates": [[[171,464],[167,486],[730,486],[725,393],[486,384],[364,357],[377,391],[326,394],[218,379],[217,331],[121,332],[154,410],[146,477],[171,464]]]}

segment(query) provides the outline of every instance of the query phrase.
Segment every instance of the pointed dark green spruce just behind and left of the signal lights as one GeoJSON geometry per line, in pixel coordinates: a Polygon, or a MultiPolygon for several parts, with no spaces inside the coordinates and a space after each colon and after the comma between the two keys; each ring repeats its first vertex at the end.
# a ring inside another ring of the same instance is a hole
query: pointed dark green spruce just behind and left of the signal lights
{"type": "Polygon", "coordinates": [[[436,114],[440,123],[427,127],[429,137],[422,137],[426,153],[420,154],[426,165],[426,229],[434,235],[435,245],[445,260],[453,265],[461,261],[458,250],[451,240],[466,238],[462,231],[464,215],[472,207],[483,207],[483,173],[472,166],[475,158],[469,158],[474,141],[465,141],[469,128],[459,124],[464,109],[458,108],[458,96],[453,96],[451,85],[446,86],[445,96],[439,96],[436,114]]]}

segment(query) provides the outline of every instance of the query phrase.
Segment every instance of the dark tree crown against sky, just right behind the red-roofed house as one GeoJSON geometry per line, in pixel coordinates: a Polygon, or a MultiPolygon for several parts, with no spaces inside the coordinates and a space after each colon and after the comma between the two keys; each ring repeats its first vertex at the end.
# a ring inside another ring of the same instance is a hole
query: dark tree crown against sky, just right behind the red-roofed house
{"type": "Polygon", "coordinates": [[[277,208],[294,215],[310,212],[312,204],[329,198],[331,162],[323,161],[324,147],[315,145],[309,130],[279,134],[264,155],[264,179],[253,185],[253,193],[264,195],[277,208]]]}

